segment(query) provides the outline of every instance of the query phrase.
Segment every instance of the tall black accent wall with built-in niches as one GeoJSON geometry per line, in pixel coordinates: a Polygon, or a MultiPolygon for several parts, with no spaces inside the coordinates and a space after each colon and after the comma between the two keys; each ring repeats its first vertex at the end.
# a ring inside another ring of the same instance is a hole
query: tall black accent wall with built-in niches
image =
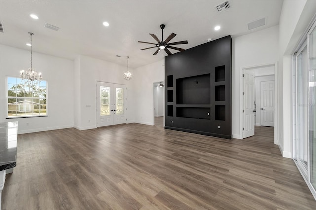
{"type": "Polygon", "coordinates": [[[165,128],[232,138],[232,38],[165,57],[165,128]]]}

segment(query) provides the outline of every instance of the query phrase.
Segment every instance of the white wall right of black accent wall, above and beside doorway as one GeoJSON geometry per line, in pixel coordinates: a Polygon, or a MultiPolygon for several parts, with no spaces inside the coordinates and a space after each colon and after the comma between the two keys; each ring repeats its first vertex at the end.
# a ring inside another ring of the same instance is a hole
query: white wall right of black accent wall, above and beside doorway
{"type": "Polygon", "coordinates": [[[240,82],[242,68],[274,64],[278,60],[278,26],[232,40],[232,107],[233,138],[242,139],[240,82]]]}

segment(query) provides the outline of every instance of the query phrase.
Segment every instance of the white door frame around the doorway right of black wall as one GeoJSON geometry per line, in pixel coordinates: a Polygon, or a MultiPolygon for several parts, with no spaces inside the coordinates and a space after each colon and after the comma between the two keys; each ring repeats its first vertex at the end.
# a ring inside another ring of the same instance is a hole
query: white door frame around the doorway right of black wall
{"type": "Polygon", "coordinates": [[[278,62],[276,63],[268,63],[268,64],[262,64],[262,65],[255,65],[255,66],[248,66],[248,67],[241,67],[240,68],[240,91],[239,91],[239,102],[240,102],[240,109],[239,109],[239,116],[240,116],[240,121],[239,121],[239,132],[240,132],[240,138],[243,139],[243,70],[249,70],[249,69],[258,69],[258,68],[263,68],[263,67],[269,67],[269,66],[274,66],[274,72],[275,72],[275,116],[274,116],[274,121],[275,121],[275,127],[274,127],[274,144],[278,145],[278,62]]]}

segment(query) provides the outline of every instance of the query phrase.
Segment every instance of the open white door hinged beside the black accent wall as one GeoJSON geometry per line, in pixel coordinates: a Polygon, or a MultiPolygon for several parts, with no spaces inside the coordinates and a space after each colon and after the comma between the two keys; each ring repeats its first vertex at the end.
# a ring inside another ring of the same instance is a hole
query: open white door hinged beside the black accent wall
{"type": "Polygon", "coordinates": [[[254,72],[243,70],[243,138],[255,135],[254,72]]]}

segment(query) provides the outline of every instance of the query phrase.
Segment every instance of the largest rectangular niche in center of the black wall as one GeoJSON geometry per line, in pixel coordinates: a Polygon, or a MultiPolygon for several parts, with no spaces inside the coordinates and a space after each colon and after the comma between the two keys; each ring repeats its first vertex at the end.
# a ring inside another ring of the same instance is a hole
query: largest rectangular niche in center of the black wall
{"type": "Polygon", "coordinates": [[[210,80],[210,74],[177,79],[177,104],[210,104],[210,80]]]}

